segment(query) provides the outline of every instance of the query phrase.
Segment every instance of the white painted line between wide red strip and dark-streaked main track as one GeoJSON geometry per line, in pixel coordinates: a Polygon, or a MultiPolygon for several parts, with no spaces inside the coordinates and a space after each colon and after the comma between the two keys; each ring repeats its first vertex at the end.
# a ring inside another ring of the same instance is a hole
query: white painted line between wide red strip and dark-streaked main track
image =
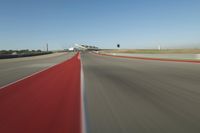
{"type": "MultiPolygon", "coordinates": [[[[81,56],[79,56],[81,58],[81,56]]],[[[80,60],[81,62],[81,60],[80,60]]],[[[81,62],[81,133],[87,133],[86,128],[86,112],[85,112],[85,85],[84,85],[84,73],[83,65],[81,62]]]]}

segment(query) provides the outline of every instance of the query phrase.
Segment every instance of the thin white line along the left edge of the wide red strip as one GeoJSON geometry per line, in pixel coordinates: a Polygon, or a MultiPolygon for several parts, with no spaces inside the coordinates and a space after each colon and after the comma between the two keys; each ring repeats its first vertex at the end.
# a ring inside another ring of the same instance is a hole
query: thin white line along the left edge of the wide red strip
{"type": "MultiPolygon", "coordinates": [[[[74,57],[74,56],[72,56],[71,58],[73,58],[73,57],[74,57]]],[[[67,60],[70,60],[71,58],[69,58],[69,59],[67,59],[67,60]]],[[[65,61],[67,61],[67,60],[65,60],[65,61]]],[[[8,86],[10,86],[10,85],[13,85],[13,84],[15,84],[15,83],[17,83],[17,82],[20,82],[20,81],[22,81],[22,80],[25,80],[25,79],[27,79],[27,78],[30,78],[30,77],[32,77],[32,76],[34,76],[34,75],[37,75],[37,74],[39,74],[39,73],[41,73],[41,72],[44,72],[44,71],[46,71],[46,70],[48,70],[48,69],[51,69],[51,68],[53,68],[53,67],[55,67],[55,66],[57,66],[57,65],[60,65],[60,64],[64,63],[65,61],[62,61],[61,63],[55,64],[55,65],[50,66],[50,67],[48,67],[48,68],[44,68],[44,69],[42,69],[42,70],[40,70],[40,71],[37,71],[37,72],[35,72],[35,73],[31,74],[31,75],[25,76],[25,77],[23,77],[23,78],[21,78],[21,79],[18,79],[18,80],[16,80],[16,81],[14,81],[14,82],[11,82],[11,83],[9,83],[9,84],[6,84],[6,85],[0,87],[0,90],[1,90],[1,89],[4,89],[4,88],[6,88],[6,87],[8,87],[8,86]]]]}

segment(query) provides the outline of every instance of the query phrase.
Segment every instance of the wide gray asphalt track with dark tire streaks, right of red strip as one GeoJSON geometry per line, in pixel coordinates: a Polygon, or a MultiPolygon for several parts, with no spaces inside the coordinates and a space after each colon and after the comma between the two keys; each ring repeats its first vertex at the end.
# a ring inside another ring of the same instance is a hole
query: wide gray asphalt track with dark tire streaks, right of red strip
{"type": "Polygon", "coordinates": [[[89,133],[200,133],[200,64],[82,53],[89,133]]]}

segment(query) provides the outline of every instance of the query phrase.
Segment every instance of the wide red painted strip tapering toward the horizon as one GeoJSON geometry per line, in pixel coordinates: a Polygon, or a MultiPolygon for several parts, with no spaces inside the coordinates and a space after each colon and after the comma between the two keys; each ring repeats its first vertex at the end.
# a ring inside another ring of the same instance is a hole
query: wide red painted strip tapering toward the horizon
{"type": "Polygon", "coordinates": [[[1,133],[80,133],[79,54],[0,90],[1,133]]]}

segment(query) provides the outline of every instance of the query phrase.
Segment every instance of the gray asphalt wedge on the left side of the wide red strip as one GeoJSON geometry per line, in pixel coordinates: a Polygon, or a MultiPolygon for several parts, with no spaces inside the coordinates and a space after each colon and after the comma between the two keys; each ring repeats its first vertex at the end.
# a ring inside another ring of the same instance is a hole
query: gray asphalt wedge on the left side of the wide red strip
{"type": "Polygon", "coordinates": [[[74,53],[0,60],[0,87],[71,58],[74,53]]]}

